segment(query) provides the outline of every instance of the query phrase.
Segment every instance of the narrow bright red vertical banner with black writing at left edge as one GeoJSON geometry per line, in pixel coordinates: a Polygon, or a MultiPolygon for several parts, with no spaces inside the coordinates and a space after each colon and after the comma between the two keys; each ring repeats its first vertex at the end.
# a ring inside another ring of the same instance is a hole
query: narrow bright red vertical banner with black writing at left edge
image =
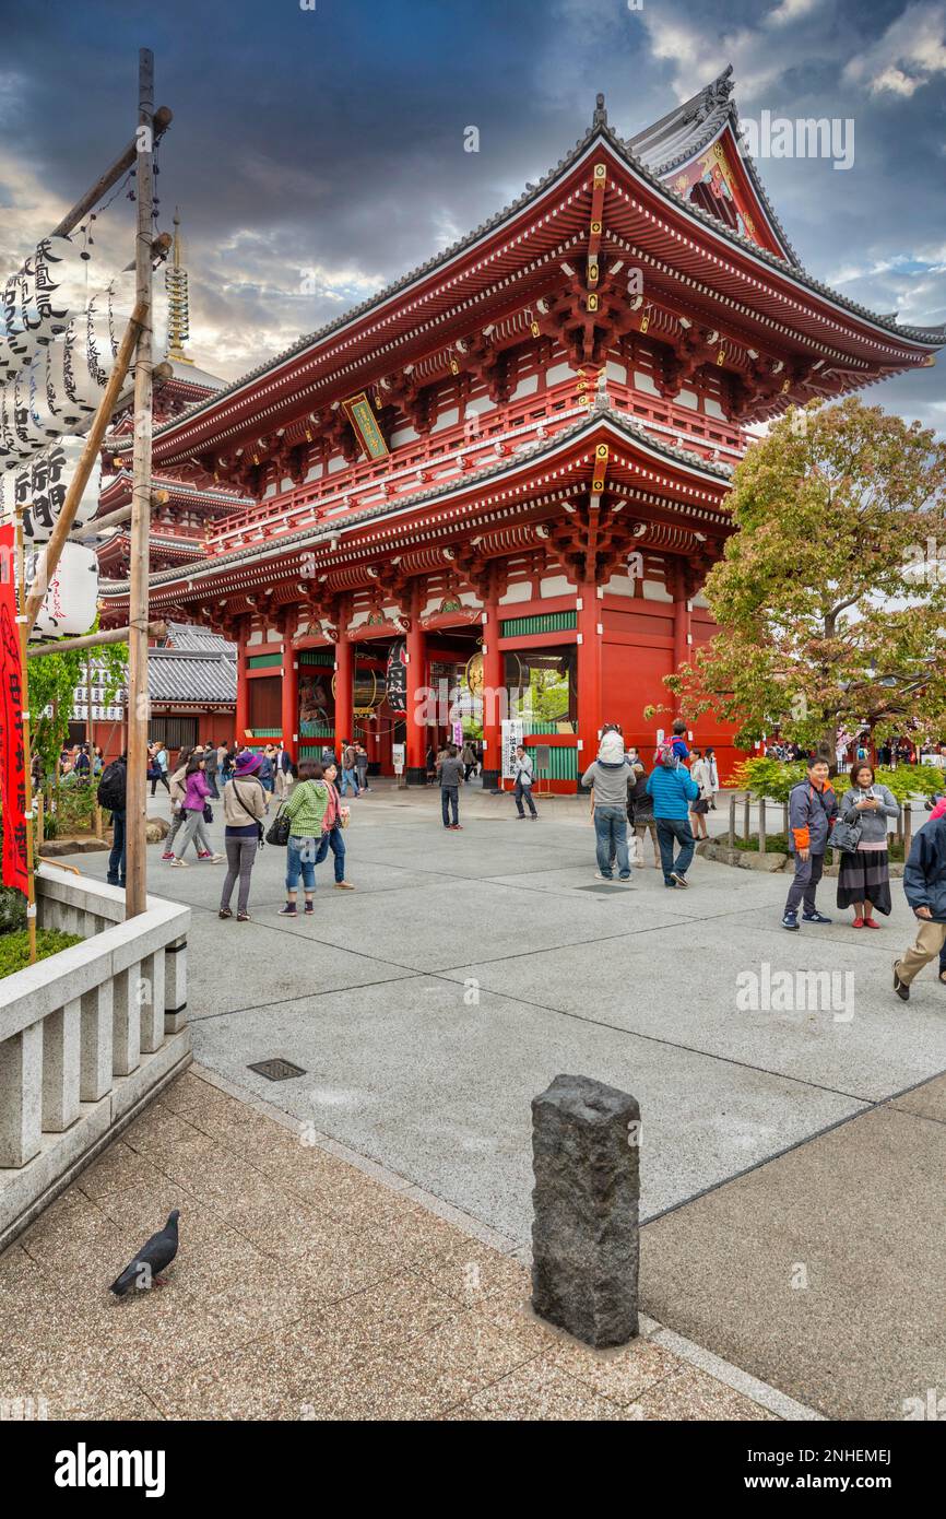
{"type": "Polygon", "coordinates": [[[26,892],[26,753],[14,579],[15,535],[15,527],[0,527],[0,807],[3,808],[3,884],[26,892]]]}

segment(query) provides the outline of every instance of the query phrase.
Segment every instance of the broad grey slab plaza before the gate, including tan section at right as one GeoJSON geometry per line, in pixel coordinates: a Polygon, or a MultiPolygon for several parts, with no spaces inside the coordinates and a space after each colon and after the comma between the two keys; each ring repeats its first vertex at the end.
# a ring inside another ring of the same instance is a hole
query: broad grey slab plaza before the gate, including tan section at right
{"type": "MultiPolygon", "coordinates": [[[[559,1072],[623,1088],[642,1112],[654,1320],[828,1417],[903,1417],[946,1384],[946,989],[931,969],[908,1006],[893,996],[913,922],[899,883],[882,933],[838,913],[787,934],[782,875],[697,860],[671,893],[647,860],[630,889],[603,886],[586,802],[518,822],[509,797],[469,788],[456,834],[437,802],[390,785],[352,802],[357,890],[319,867],[311,919],[276,916],[282,851],[258,857],[249,924],[217,917],[223,866],[149,852],[150,890],[194,910],[208,1078],[519,1261],[531,1098],[559,1072]],[[834,980],[796,978],[809,971],[834,980]],[[249,1069],[272,1057],[304,1074],[249,1069]]],[[[105,873],[103,855],[77,863],[105,873]]],[[[826,881],[823,910],[832,895],[826,881]]]]}

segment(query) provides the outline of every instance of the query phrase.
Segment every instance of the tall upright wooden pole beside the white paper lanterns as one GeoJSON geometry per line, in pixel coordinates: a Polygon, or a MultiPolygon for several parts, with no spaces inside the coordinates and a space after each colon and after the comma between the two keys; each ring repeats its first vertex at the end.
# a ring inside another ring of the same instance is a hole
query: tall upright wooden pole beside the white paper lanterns
{"type": "Polygon", "coordinates": [[[147,898],[147,573],[152,478],[152,211],[153,211],[155,58],[138,55],[138,132],[135,196],[135,304],[147,308],[135,354],[135,447],[132,472],[131,597],[128,633],[128,791],[125,913],[143,913],[147,898]]]}

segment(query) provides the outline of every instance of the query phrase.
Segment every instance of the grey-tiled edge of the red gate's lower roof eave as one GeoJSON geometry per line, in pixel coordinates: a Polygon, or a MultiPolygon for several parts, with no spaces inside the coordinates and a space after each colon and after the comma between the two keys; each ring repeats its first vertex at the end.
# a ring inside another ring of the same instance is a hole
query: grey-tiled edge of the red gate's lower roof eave
{"type": "MultiPolygon", "coordinates": [[[[562,428],[550,439],[528,444],[518,450],[515,456],[501,459],[487,469],[481,469],[469,475],[451,477],[449,480],[434,483],[424,491],[413,492],[408,497],[399,497],[395,501],[363,507],[361,510],[352,512],[343,521],[340,518],[331,518],[328,521],[323,519],[311,529],[285,533],[281,538],[269,538],[260,544],[244,544],[225,554],[216,554],[199,571],[181,571],[173,568],[159,570],[150,576],[149,586],[152,589],[162,589],[166,586],[170,588],[185,582],[190,588],[199,580],[208,580],[225,576],[231,571],[240,571],[246,565],[254,565],[269,559],[278,561],[285,553],[296,553],[316,545],[331,545],[333,541],[349,536],[360,529],[371,527],[377,521],[410,515],[425,506],[448,504],[451,498],[471,497],[486,486],[497,486],[506,480],[515,480],[516,475],[528,475],[533,472],[533,466],[536,463],[551,465],[556,462],[557,456],[574,451],[575,445],[600,437],[603,433],[612,434],[618,444],[632,444],[636,454],[645,456],[653,460],[654,465],[671,466],[685,477],[700,482],[700,486],[709,486],[709,491],[694,486],[683,486],[682,489],[712,498],[711,506],[700,507],[700,510],[705,510],[706,515],[715,515],[715,512],[721,510],[723,498],[732,477],[732,468],[729,465],[712,463],[711,460],[702,459],[698,454],[689,453],[686,448],[677,448],[673,444],[657,441],[645,428],[630,421],[626,413],[615,410],[606,396],[598,396],[595,398],[595,404],[588,409],[588,415],[580,418],[580,421],[572,427],[562,428]]],[[[100,586],[100,594],[105,598],[121,600],[123,597],[128,597],[128,580],[112,580],[108,585],[103,583],[100,586]]]]}

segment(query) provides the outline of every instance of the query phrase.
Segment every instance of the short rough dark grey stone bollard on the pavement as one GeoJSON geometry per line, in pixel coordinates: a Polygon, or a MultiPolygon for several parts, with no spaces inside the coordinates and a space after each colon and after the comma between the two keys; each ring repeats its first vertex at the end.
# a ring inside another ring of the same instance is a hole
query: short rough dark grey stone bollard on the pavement
{"type": "Polygon", "coordinates": [[[638,1332],[639,1104],[557,1075],[531,1115],[531,1305],[586,1344],[626,1344],[638,1332]]]}

